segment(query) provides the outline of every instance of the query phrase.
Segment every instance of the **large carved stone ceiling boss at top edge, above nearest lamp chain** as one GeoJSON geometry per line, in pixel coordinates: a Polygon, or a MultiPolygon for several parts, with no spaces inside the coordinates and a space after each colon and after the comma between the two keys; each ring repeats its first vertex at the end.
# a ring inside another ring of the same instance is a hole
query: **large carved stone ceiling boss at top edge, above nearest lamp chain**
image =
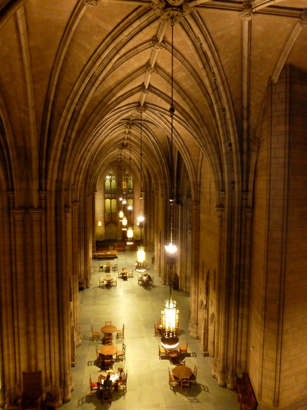
{"type": "Polygon", "coordinates": [[[188,5],[188,0],[156,0],[151,2],[151,7],[160,15],[162,20],[174,21],[180,20],[185,15],[192,11],[192,8],[188,5]]]}

